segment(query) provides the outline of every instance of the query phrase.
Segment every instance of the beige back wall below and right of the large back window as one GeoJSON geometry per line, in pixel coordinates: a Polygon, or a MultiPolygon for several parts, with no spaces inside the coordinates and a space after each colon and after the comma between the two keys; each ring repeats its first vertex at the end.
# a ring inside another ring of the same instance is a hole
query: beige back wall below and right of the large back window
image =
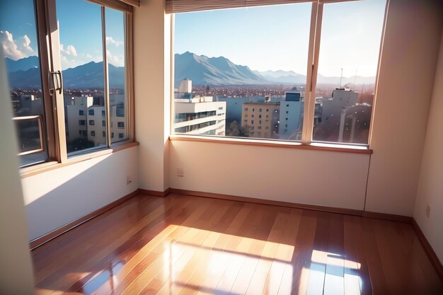
{"type": "Polygon", "coordinates": [[[365,155],[174,141],[171,187],[363,209],[368,185],[367,211],[412,216],[442,30],[437,6],[391,0],[368,183],[365,155]]]}

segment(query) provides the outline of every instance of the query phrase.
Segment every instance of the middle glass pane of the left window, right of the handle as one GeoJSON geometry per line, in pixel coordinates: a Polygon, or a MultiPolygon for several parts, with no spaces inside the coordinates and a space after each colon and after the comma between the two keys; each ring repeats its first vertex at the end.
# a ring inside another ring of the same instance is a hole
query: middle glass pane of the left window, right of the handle
{"type": "Polygon", "coordinates": [[[106,146],[101,8],[84,0],[57,0],[67,151],[106,146]],[[75,16],[73,18],[73,16],[75,16]]]}

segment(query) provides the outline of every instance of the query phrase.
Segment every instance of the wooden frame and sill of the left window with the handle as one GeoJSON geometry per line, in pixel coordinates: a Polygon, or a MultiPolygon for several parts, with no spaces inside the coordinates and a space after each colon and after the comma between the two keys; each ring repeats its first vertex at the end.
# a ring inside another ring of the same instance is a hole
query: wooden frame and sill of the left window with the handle
{"type": "MultiPolygon", "coordinates": [[[[84,0],[86,1],[86,0],[84,0]]],[[[62,86],[62,64],[60,54],[59,28],[57,23],[56,0],[33,0],[35,9],[35,25],[37,29],[37,42],[42,76],[42,96],[45,120],[42,123],[42,145],[47,149],[48,158],[45,162],[31,163],[20,168],[21,175],[29,175],[35,170],[46,170],[48,166],[56,164],[77,163],[79,157],[103,154],[103,150],[117,151],[125,146],[134,146],[134,58],[133,58],[133,16],[132,12],[123,12],[125,33],[125,100],[127,105],[127,139],[111,142],[110,124],[107,125],[107,144],[90,149],[67,153],[66,127],[64,113],[64,99],[62,86]]],[[[93,2],[93,1],[91,1],[93,2]]],[[[103,42],[103,67],[105,68],[105,86],[109,87],[108,63],[106,54],[105,35],[105,6],[100,6],[102,13],[102,42],[103,42]]],[[[106,6],[113,8],[112,6],[106,6]]],[[[115,9],[115,8],[113,8],[115,9]]],[[[110,120],[109,91],[105,90],[105,117],[110,120]]],[[[86,113],[84,114],[86,115],[86,113]]],[[[88,120],[85,119],[86,125],[88,120]]]]}

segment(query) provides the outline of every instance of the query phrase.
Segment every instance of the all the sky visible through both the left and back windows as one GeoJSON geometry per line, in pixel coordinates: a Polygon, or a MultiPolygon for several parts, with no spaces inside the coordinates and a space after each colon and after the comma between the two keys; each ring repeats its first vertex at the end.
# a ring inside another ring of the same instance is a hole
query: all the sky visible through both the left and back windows
{"type": "MultiPolygon", "coordinates": [[[[100,7],[57,0],[62,68],[100,62],[100,7]]],[[[326,4],[318,71],[325,76],[374,76],[386,0],[326,4]]],[[[124,64],[123,13],[106,8],[108,60],[124,64]]],[[[175,52],[224,56],[251,69],[306,74],[311,4],[176,14],[175,52]]],[[[147,28],[149,29],[149,28],[147,28]]],[[[37,54],[33,0],[0,0],[0,42],[7,57],[37,54]],[[19,13],[18,13],[19,12],[19,13]],[[20,16],[20,17],[17,17],[20,16]]]]}

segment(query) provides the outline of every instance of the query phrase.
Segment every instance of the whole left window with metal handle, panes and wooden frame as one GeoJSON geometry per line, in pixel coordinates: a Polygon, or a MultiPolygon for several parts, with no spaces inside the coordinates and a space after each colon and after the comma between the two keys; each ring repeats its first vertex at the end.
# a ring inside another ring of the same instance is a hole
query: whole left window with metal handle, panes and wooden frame
{"type": "Polygon", "coordinates": [[[118,0],[0,1],[21,166],[130,139],[130,13],[118,0]]]}

